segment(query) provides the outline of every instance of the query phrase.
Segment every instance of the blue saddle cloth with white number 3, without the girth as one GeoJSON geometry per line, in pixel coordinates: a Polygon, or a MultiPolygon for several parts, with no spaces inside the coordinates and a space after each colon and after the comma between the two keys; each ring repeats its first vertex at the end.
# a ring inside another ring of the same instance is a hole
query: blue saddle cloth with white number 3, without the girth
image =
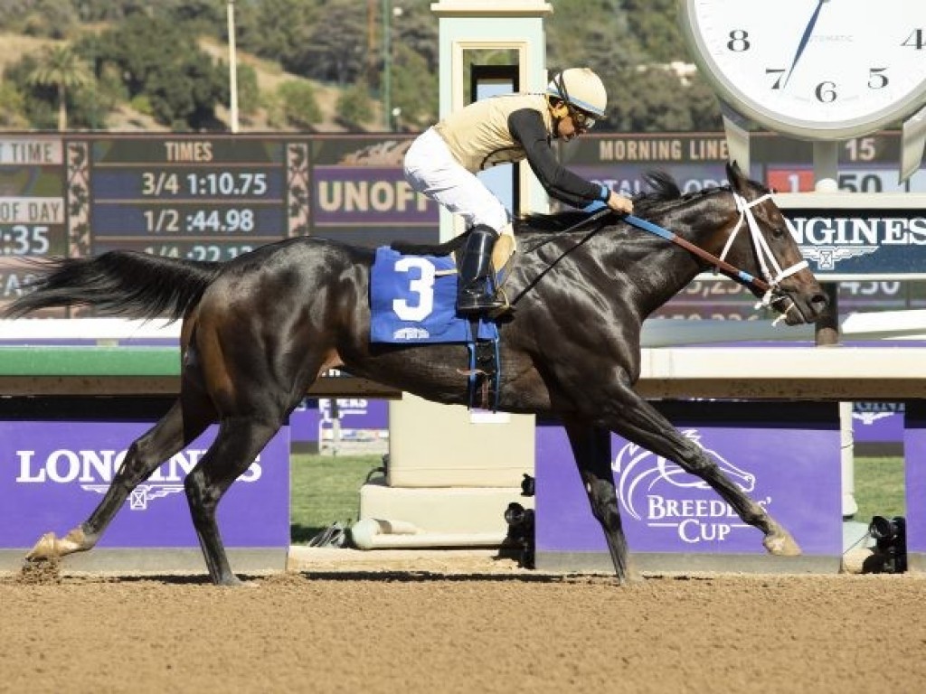
{"type": "MultiPolygon", "coordinates": [[[[370,341],[392,344],[472,342],[469,318],[457,316],[457,271],[449,256],[403,255],[382,246],[369,278],[370,341]]],[[[480,318],[476,339],[497,340],[480,318]]]]}

